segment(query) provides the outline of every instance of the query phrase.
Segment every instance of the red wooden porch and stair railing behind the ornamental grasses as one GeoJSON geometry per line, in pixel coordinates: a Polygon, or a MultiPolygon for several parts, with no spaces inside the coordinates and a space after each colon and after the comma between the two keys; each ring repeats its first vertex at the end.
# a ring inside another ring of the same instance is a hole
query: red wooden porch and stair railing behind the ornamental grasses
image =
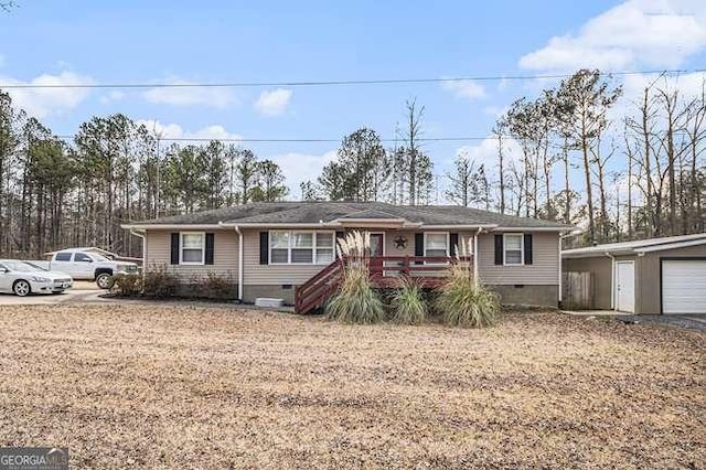
{"type": "MultiPolygon", "coordinates": [[[[449,265],[472,263],[472,256],[375,256],[368,260],[371,279],[376,287],[395,287],[399,277],[410,277],[421,287],[437,287],[443,280],[449,265]]],[[[321,308],[338,290],[343,278],[345,259],[336,259],[317,273],[295,292],[297,313],[309,313],[321,308]]]]}

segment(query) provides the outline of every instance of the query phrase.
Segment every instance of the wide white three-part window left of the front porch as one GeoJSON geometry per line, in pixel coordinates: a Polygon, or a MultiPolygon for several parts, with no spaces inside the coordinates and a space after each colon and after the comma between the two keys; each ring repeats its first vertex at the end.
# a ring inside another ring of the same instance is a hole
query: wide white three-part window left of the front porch
{"type": "Polygon", "coordinates": [[[333,261],[333,232],[271,231],[272,265],[325,265],[333,261]]]}

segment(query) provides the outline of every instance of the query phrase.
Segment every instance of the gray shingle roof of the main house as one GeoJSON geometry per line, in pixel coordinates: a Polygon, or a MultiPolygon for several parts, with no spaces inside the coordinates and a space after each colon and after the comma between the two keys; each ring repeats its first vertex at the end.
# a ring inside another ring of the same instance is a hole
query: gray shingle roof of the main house
{"type": "Polygon", "coordinates": [[[131,225],[319,224],[339,218],[404,218],[422,225],[498,225],[503,227],[574,228],[557,222],[515,217],[450,205],[393,205],[382,202],[256,202],[213,211],[172,215],[131,225]]]}

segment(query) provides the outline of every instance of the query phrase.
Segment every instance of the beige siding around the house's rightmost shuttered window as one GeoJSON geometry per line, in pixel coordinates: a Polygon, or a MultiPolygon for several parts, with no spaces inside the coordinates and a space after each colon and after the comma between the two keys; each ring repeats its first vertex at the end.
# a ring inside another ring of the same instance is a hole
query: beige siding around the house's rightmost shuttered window
{"type": "MultiPolygon", "coordinates": [[[[512,232],[515,233],[515,232],[512,232]]],[[[559,282],[559,236],[557,233],[532,234],[532,265],[495,265],[493,233],[479,237],[479,274],[488,285],[556,285],[559,282]]]]}

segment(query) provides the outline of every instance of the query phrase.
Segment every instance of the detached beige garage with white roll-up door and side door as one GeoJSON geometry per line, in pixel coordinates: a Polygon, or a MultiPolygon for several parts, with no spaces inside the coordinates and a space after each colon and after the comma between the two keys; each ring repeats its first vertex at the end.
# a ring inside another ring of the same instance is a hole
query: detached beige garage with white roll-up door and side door
{"type": "Polygon", "coordinates": [[[590,273],[591,308],[706,313],[706,234],[561,252],[564,273],[590,273]]]}

